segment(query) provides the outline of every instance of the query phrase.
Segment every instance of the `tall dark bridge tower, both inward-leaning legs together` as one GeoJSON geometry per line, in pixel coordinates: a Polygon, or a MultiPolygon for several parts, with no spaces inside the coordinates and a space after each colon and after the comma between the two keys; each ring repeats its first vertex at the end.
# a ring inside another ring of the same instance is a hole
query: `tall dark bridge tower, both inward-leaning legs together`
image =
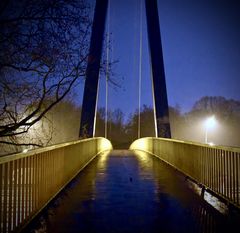
{"type": "MultiPolygon", "coordinates": [[[[157,0],[145,0],[156,136],[171,138],[157,0]]],[[[100,60],[108,0],[96,0],[84,87],[80,137],[94,137],[100,60]]]]}

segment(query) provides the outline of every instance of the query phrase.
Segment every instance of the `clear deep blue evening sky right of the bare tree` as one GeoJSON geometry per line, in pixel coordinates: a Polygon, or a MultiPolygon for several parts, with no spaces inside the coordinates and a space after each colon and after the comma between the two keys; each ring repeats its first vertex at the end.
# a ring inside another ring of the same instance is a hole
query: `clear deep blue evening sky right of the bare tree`
{"type": "MultiPolygon", "coordinates": [[[[140,4],[143,4],[142,97],[152,105],[144,1],[110,0],[111,60],[118,60],[109,108],[126,116],[138,107],[140,4]]],[[[183,112],[202,96],[240,100],[240,3],[234,0],[158,0],[169,105],[183,112]]],[[[98,106],[105,105],[101,77],[98,106]]]]}

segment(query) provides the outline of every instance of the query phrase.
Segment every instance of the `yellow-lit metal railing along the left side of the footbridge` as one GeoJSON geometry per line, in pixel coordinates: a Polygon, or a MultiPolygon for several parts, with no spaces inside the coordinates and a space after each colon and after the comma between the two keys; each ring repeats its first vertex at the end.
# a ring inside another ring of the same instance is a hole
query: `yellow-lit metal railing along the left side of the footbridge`
{"type": "Polygon", "coordinates": [[[105,138],[64,143],[0,158],[0,232],[20,230],[98,153],[105,138]]]}

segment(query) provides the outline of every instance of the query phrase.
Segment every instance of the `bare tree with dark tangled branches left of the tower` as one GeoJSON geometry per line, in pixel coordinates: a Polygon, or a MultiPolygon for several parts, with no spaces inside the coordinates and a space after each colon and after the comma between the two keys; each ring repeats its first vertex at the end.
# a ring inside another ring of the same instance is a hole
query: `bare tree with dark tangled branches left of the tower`
{"type": "Polygon", "coordinates": [[[23,135],[85,76],[84,0],[0,3],[0,143],[41,145],[23,135]]]}

